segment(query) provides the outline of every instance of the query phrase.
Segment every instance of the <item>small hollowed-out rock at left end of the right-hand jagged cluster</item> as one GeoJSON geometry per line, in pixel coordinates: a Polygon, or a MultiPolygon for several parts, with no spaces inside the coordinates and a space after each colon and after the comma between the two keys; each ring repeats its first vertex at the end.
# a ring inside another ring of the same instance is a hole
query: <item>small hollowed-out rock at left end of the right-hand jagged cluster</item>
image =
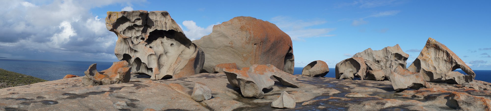
{"type": "Polygon", "coordinates": [[[356,76],[363,80],[366,74],[365,60],[360,57],[344,59],[336,64],[336,79],[350,79],[356,76]]]}

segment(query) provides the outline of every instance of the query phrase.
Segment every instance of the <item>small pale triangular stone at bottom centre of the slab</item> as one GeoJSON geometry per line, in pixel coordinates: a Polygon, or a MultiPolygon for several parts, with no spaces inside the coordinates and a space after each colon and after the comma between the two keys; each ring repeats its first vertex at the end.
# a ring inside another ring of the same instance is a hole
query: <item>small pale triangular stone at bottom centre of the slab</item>
{"type": "Polygon", "coordinates": [[[271,107],[273,108],[280,108],[280,109],[291,109],[295,108],[295,98],[288,94],[288,92],[283,91],[281,92],[281,95],[279,96],[278,99],[274,100],[273,103],[271,103],[271,107]]]}

